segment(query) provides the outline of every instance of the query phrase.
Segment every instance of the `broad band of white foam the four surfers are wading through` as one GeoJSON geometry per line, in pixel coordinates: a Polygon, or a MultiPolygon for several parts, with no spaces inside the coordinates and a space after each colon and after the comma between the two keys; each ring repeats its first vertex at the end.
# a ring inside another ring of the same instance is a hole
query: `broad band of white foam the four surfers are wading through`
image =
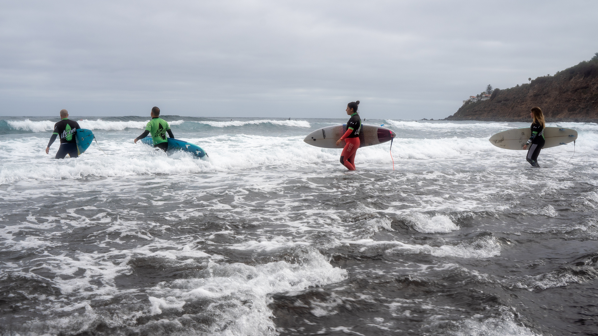
{"type": "MultiPolygon", "coordinates": [[[[115,122],[120,123],[120,122],[115,122]]],[[[124,127],[124,124],[119,124],[124,127]]],[[[112,127],[115,129],[116,127],[112,127]]],[[[136,136],[137,134],[135,134],[136,136]]],[[[133,137],[133,135],[132,135],[133,137]]],[[[97,136],[104,152],[92,143],[87,152],[78,159],[48,161],[57,149],[51,148],[51,155],[45,155],[47,138],[11,138],[0,141],[0,181],[22,179],[62,179],[84,178],[89,176],[130,176],[148,174],[182,174],[197,172],[225,172],[255,167],[288,167],[295,170],[306,165],[316,164],[324,169],[340,170],[337,164],[338,149],[317,148],[303,142],[301,136],[272,137],[259,135],[218,135],[207,138],[185,138],[202,146],[209,155],[208,161],[191,160],[190,155],[166,157],[155,153],[147,145],[134,145],[130,139],[112,140],[97,136]],[[163,159],[156,160],[162,156],[163,159]],[[187,160],[187,157],[189,160],[187,160]]],[[[356,157],[358,169],[371,164],[392,169],[388,148],[390,144],[360,148],[356,157]]],[[[588,135],[583,143],[576,146],[576,160],[587,160],[584,155],[595,156],[598,136],[588,135]]],[[[434,169],[437,164],[454,160],[454,165],[475,167],[487,166],[526,167],[524,152],[505,151],[493,146],[484,139],[396,139],[392,146],[395,167],[404,169],[416,161],[426,161],[426,169],[434,169]],[[415,160],[415,161],[414,161],[415,160]]],[[[542,160],[568,160],[572,146],[559,146],[542,151],[542,160]]],[[[566,161],[565,161],[566,162],[566,161]]],[[[577,161],[579,162],[579,161],[577,161]]],[[[440,168],[440,166],[438,166],[440,168]]],[[[445,168],[440,168],[445,169],[445,168]]],[[[509,178],[511,182],[524,182],[526,178],[509,178]]],[[[510,182],[509,182],[510,183],[510,182]]],[[[265,188],[261,185],[260,188],[265,188]]],[[[481,190],[480,193],[483,193],[481,190]]]]}

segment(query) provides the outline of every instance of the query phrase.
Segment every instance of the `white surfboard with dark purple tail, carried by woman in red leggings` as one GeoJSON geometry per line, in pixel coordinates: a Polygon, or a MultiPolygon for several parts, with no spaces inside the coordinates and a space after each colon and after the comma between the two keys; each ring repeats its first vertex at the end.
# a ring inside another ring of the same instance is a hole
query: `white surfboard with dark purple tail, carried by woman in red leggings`
{"type": "MultiPolygon", "coordinates": [[[[344,140],[340,142],[340,145],[336,145],[338,139],[343,136],[344,132],[347,131],[347,125],[334,125],[317,129],[312,133],[309,133],[303,139],[304,142],[309,143],[312,146],[322,148],[343,148],[344,140]]],[[[386,127],[361,124],[361,134],[359,135],[359,147],[377,145],[379,143],[390,141],[395,138],[395,132],[389,130],[386,127]]]]}

